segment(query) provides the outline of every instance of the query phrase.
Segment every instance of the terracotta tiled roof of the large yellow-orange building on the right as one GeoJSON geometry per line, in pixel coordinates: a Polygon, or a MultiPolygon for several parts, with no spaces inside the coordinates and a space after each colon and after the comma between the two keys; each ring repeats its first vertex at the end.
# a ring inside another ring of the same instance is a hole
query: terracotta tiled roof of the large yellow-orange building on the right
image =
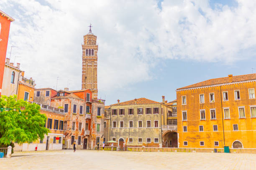
{"type": "Polygon", "coordinates": [[[178,88],[177,90],[193,88],[193,87],[220,85],[220,84],[233,83],[233,82],[243,82],[243,81],[249,81],[249,80],[256,80],[256,73],[247,74],[247,75],[236,75],[236,76],[229,75],[228,77],[214,78],[214,79],[198,82],[193,85],[188,85],[182,88],[178,88]]]}

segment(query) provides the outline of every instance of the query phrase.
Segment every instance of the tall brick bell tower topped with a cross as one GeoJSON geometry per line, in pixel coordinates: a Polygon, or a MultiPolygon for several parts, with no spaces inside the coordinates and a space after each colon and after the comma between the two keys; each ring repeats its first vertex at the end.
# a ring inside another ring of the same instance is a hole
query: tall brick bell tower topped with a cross
{"type": "Polygon", "coordinates": [[[97,99],[97,52],[98,45],[96,45],[97,36],[92,33],[92,25],[87,35],[84,35],[84,44],[82,45],[82,90],[90,89],[92,91],[92,98],[97,99]]]}

